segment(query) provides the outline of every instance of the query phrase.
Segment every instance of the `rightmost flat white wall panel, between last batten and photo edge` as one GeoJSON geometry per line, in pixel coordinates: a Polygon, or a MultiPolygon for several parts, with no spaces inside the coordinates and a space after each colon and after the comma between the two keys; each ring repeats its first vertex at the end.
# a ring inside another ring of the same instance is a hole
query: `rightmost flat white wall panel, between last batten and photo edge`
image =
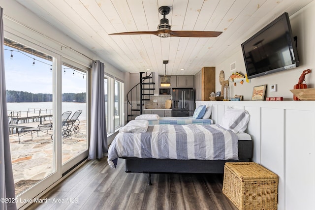
{"type": "Polygon", "coordinates": [[[314,111],[286,110],[285,127],[286,209],[314,208],[310,203],[315,198],[314,111]]]}

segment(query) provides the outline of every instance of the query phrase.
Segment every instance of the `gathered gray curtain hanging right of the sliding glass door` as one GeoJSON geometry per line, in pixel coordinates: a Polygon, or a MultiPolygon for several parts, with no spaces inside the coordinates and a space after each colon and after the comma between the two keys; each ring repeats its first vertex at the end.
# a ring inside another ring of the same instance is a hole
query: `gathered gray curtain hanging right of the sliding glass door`
{"type": "Polygon", "coordinates": [[[92,104],[89,160],[103,158],[103,154],[108,150],[104,94],[104,63],[99,60],[95,60],[92,64],[92,104]]]}

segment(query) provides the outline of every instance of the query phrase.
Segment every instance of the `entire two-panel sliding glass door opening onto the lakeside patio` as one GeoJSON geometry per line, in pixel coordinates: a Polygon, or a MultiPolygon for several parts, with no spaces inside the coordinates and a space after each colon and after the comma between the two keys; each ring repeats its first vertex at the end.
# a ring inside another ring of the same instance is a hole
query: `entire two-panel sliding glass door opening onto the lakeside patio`
{"type": "Polygon", "coordinates": [[[89,68],[29,44],[4,46],[18,208],[88,156],[89,68]]]}

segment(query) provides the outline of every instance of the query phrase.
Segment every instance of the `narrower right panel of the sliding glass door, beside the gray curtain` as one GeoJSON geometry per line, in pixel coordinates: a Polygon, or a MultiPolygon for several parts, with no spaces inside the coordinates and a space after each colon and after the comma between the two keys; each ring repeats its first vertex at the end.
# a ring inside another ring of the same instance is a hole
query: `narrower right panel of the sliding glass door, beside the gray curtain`
{"type": "Polygon", "coordinates": [[[62,121],[63,173],[88,155],[87,141],[87,70],[79,64],[63,62],[62,112],[69,113],[62,121]]]}

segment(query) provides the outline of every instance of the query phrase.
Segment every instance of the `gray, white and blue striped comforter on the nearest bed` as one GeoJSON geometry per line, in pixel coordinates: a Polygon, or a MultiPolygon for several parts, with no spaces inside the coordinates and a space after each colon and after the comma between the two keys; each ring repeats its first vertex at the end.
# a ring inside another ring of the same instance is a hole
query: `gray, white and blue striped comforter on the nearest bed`
{"type": "Polygon", "coordinates": [[[119,133],[107,161],[118,157],[157,159],[238,160],[237,135],[220,125],[151,125],[145,133],[119,133]]]}

